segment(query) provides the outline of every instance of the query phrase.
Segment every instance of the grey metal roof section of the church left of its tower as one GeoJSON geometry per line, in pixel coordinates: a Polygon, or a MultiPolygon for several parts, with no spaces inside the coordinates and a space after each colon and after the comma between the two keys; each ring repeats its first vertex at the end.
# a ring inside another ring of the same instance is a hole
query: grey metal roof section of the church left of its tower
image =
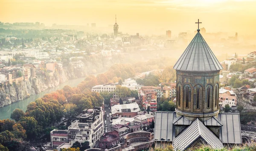
{"type": "Polygon", "coordinates": [[[155,112],[155,141],[172,142],[175,137],[172,121],[175,117],[175,112],[155,112]]]}

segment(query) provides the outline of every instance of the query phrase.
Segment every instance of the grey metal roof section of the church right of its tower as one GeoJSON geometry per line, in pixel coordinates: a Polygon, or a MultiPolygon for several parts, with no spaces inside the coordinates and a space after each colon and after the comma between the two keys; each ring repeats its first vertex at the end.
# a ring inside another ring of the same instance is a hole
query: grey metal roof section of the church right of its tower
{"type": "Polygon", "coordinates": [[[220,140],[223,143],[241,144],[239,113],[219,113],[218,119],[223,124],[220,131],[220,140]]]}

